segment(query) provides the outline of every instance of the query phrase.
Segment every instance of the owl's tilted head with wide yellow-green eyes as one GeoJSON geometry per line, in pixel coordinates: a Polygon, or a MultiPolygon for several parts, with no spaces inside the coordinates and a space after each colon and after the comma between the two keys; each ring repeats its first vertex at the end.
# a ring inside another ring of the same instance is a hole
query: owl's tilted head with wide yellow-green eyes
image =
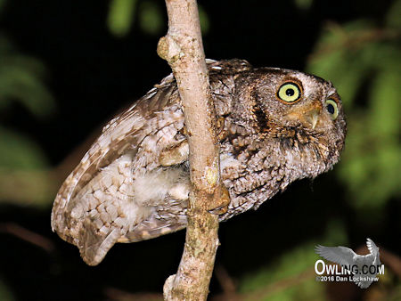
{"type": "Polygon", "coordinates": [[[261,68],[243,73],[236,84],[242,100],[237,120],[257,129],[261,140],[282,142],[291,151],[297,148],[299,156],[309,148],[327,167],[338,161],[347,126],[340,96],[330,82],[299,71],[261,68]]]}

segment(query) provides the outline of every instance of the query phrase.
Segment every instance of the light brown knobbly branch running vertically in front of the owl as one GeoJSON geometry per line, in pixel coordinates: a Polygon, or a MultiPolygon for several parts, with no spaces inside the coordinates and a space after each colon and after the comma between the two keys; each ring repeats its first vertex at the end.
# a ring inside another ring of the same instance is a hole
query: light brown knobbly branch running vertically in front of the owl
{"type": "Polygon", "coordinates": [[[177,273],[164,285],[164,297],[206,300],[218,246],[217,216],[207,210],[221,195],[216,114],[196,1],[166,0],[166,5],[168,34],[160,38],[158,53],[173,69],[183,103],[192,191],[184,253],[177,273]]]}

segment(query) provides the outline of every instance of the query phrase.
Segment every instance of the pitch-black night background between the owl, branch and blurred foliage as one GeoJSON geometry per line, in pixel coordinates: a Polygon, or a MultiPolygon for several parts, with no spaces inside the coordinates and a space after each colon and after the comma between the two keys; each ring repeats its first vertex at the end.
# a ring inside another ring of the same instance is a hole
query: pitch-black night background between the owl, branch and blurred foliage
{"type": "MultiPolygon", "coordinates": [[[[369,19],[380,27],[393,3],[313,1],[303,11],[293,1],[201,1],[209,18],[203,40],[205,53],[217,60],[241,58],[255,66],[302,70],[327,21],[344,24],[369,19]]],[[[56,110],[48,118],[37,119],[15,103],[1,113],[1,123],[37,142],[49,168],[60,167],[75,151],[77,155],[66,167],[71,170],[78,163],[77,156],[89,147],[88,137],[170,72],[156,53],[157,42],[167,27],[161,28],[160,34],[150,35],[139,28],[135,18],[126,37],[115,37],[106,24],[109,5],[108,1],[12,0],[2,9],[1,31],[20,53],[45,64],[45,85],[53,94],[56,110]]],[[[167,24],[163,3],[157,5],[167,24]]],[[[130,294],[160,292],[168,275],[176,272],[184,232],[118,244],[102,264],[86,266],[75,246],[51,232],[52,201],[53,197],[42,207],[0,203],[2,224],[18,224],[53,246],[46,250],[12,232],[0,232],[0,280],[15,299],[116,297],[110,288],[130,294]]],[[[399,254],[398,199],[389,197],[381,223],[372,224],[361,221],[349,201],[346,187],[334,171],[314,181],[292,183],[258,211],[221,224],[217,264],[237,283],[303,241],[323,237],[332,218],[347,232],[349,248],[356,249],[364,245],[366,237],[372,237],[399,254]]],[[[373,214],[371,217],[374,219],[373,214]]],[[[314,252],[312,248],[310,252],[314,252]]],[[[399,289],[399,280],[394,288],[399,289]]],[[[222,290],[215,277],[210,290],[211,297],[222,290]]],[[[364,298],[363,293],[358,289],[348,297],[364,298]]],[[[335,296],[332,291],[326,295],[335,296]]]]}

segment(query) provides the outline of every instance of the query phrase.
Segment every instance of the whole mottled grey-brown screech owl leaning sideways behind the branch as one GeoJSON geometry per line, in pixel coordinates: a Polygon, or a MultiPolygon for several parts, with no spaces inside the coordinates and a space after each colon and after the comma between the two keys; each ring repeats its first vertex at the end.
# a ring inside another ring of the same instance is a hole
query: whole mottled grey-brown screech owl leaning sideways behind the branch
{"type": "MultiPolygon", "coordinates": [[[[315,177],[340,159],[346,121],[330,82],[299,71],[208,60],[220,126],[220,221],[315,177]]],[[[99,264],[116,242],[149,240],[186,225],[188,144],[176,81],[165,77],[113,118],[62,184],[52,228],[99,264]]]]}

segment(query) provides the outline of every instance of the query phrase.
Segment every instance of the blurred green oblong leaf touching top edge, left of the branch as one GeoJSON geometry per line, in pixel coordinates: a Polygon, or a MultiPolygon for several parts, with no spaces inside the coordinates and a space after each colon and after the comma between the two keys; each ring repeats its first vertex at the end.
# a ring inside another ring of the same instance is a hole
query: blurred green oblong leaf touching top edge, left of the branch
{"type": "Polygon", "coordinates": [[[112,0],[107,26],[115,37],[126,37],[134,23],[136,0],[112,0]]]}

